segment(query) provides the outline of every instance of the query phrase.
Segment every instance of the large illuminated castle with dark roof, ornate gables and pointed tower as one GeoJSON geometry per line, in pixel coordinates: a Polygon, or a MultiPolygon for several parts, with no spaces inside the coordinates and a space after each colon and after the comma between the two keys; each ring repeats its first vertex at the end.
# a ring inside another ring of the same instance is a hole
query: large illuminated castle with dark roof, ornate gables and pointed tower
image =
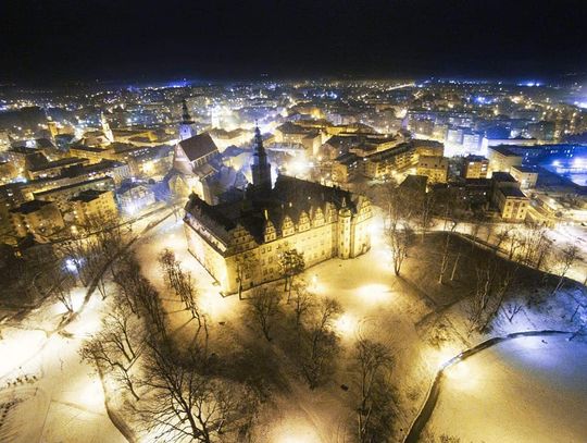
{"type": "Polygon", "coordinates": [[[338,187],[279,175],[255,130],[252,184],[243,198],[209,205],[192,194],[186,205],[189,251],[226,294],[277,280],[279,255],[303,251],[307,267],[353,258],[371,247],[371,204],[338,187]]]}

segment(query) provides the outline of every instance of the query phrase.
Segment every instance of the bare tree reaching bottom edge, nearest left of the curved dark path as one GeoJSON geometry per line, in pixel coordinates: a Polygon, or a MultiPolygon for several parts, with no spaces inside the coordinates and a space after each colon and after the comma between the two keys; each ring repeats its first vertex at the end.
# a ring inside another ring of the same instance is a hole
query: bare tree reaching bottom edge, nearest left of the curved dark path
{"type": "Polygon", "coordinates": [[[353,356],[357,386],[357,436],[361,443],[388,441],[394,401],[388,382],[392,365],[389,349],[380,343],[360,339],[353,356]]]}

